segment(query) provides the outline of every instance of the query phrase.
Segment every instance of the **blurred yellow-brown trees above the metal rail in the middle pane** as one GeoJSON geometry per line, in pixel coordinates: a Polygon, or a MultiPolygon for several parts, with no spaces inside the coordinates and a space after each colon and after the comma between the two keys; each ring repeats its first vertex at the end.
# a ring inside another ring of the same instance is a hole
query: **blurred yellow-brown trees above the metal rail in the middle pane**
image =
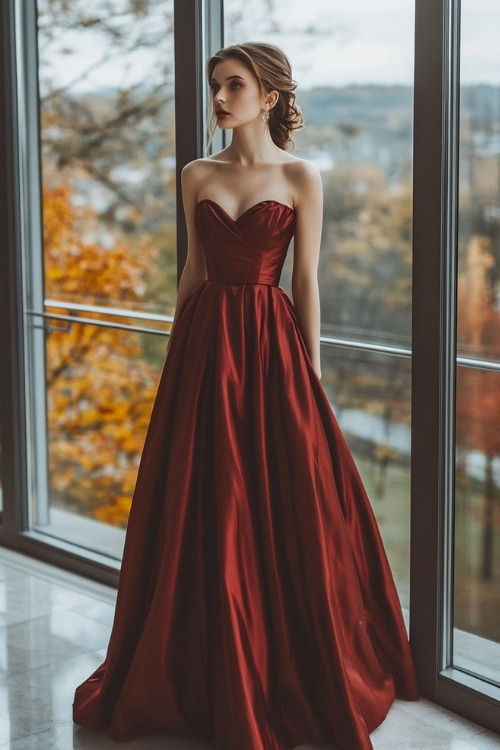
{"type": "Polygon", "coordinates": [[[324,244],[325,319],[353,335],[408,344],[410,186],[390,188],[376,165],[335,167],[325,178],[324,244]]]}

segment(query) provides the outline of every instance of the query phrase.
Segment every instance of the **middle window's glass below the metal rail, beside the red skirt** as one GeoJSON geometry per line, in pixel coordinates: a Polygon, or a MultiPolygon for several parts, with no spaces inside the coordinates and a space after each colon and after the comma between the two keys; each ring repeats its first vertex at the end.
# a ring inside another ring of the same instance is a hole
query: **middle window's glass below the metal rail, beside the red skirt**
{"type": "Polygon", "coordinates": [[[324,347],[323,386],[377,517],[401,602],[409,605],[410,360],[324,347]]]}

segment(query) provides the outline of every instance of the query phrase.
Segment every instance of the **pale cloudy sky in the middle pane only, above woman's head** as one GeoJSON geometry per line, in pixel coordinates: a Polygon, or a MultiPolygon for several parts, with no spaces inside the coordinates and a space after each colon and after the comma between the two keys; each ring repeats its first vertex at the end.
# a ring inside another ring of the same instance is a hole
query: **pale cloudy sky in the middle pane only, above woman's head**
{"type": "MultiPolygon", "coordinates": [[[[243,2],[225,0],[225,7],[243,2]]],[[[226,42],[242,41],[247,33],[278,44],[301,87],[412,83],[414,0],[286,0],[276,5],[278,32],[262,33],[263,14],[260,24],[249,19],[251,32],[244,20],[241,27],[226,28],[226,42]],[[314,32],[304,33],[311,26],[314,32]]]]}

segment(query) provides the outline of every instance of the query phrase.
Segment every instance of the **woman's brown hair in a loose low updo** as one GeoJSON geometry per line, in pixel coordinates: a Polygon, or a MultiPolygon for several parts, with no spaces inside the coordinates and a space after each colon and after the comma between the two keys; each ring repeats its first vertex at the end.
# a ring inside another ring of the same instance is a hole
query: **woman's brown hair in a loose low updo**
{"type": "MultiPolygon", "coordinates": [[[[286,150],[293,147],[292,133],[304,127],[302,113],[295,104],[297,84],[292,79],[292,69],[288,57],[273,44],[245,42],[219,50],[210,58],[207,65],[210,81],[217,63],[234,58],[253,73],[266,93],[278,92],[278,100],[269,112],[269,131],[274,143],[286,150]]],[[[213,115],[212,115],[213,116],[213,115]]],[[[213,123],[215,132],[216,124],[213,123]]]]}

